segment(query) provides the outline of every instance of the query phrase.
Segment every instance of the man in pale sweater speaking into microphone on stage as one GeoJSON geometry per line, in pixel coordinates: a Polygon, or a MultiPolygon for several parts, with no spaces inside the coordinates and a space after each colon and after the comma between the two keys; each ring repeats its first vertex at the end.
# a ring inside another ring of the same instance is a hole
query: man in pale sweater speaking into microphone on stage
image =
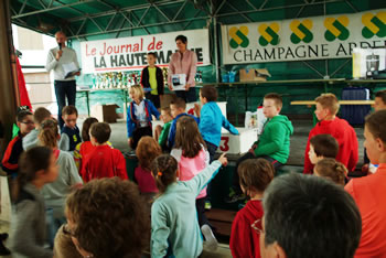
{"type": "Polygon", "coordinates": [[[50,50],[45,68],[54,71],[55,96],[57,100],[57,119],[62,130],[64,121],[62,109],[64,106],[75,106],[76,83],[75,75],[81,75],[76,52],[66,46],[67,37],[63,31],[55,34],[57,47],[50,50]],[[67,105],[65,98],[67,97],[67,105]]]}

